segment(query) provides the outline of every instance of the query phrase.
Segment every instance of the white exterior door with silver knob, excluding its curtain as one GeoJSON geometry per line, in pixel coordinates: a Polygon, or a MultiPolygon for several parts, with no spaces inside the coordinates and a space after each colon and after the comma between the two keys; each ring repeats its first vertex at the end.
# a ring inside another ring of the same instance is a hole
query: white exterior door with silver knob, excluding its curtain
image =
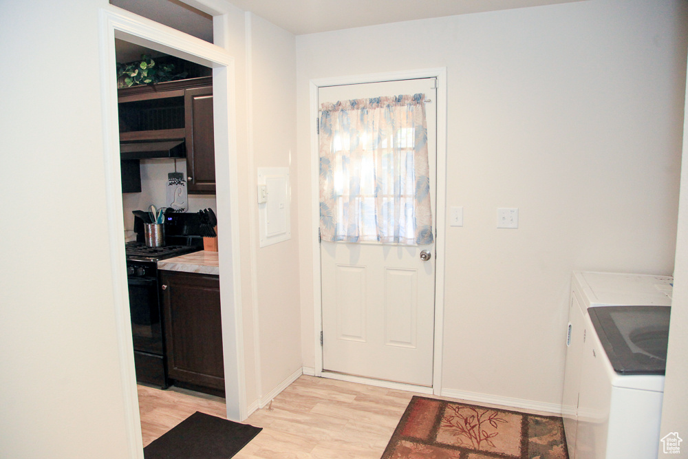
{"type": "MultiPolygon", "coordinates": [[[[435,78],[321,87],[319,104],[425,94],[433,233],[436,216],[435,78]]],[[[434,243],[321,242],[323,370],[431,387],[434,243]],[[422,250],[431,259],[420,258],[422,250]]]]}

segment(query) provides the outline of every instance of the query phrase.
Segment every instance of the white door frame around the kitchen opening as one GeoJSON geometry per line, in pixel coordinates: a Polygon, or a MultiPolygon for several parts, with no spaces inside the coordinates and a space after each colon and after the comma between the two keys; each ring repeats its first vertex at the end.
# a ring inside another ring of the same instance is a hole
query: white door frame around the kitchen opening
{"type": "Polygon", "coordinates": [[[111,269],[114,288],[122,391],[129,456],[143,458],[136,371],[134,369],[129,314],[127,268],[122,231],[122,187],[120,182],[116,58],[114,39],[124,39],[213,68],[213,122],[215,123],[215,175],[217,178],[218,225],[227,228],[219,236],[220,300],[224,350],[227,417],[244,420],[246,404],[244,338],[241,328],[239,279],[239,202],[235,128],[234,59],[226,51],[228,8],[213,0],[183,0],[213,15],[215,43],[166,27],[116,6],[105,6],[99,14],[100,94],[103,116],[105,192],[109,227],[111,269]],[[207,4],[206,4],[207,3],[207,4]]]}

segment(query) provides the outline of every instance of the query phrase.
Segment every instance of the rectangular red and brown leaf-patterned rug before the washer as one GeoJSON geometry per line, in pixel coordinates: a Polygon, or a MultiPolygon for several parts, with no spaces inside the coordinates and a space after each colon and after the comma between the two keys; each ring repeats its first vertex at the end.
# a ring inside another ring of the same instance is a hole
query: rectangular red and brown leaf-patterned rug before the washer
{"type": "Polygon", "coordinates": [[[381,459],[568,459],[556,416],[414,396],[381,459]]]}

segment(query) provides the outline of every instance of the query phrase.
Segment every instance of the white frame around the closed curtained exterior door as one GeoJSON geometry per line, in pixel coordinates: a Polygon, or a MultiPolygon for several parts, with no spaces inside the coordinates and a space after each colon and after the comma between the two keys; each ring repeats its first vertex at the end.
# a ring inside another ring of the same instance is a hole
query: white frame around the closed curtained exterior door
{"type": "Polygon", "coordinates": [[[313,248],[313,303],[314,303],[314,346],[315,346],[315,376],[343,379],[391,387],[394,389],[412,390],[413,392],[432,393],[440,395],[442,390],[442,330],[444,329],[444,220],[447,196],[447,68],[433,68],[380,74],[365,74],[341,76],[333,78],[318,78],[310,81],[310,149],[311,149],[311,205],[312,226],[311,240],[313,248]],[[413,78],[437,78],[437,204],[436,204],[436,272],[435,272],[435,338],[433,350],[433,384],[432,388],[416,385],[391,383],[374,379],[345,376],[336,373],[323,372],[323,348],[320,344],[323,331],[323,303],[321,296],[321,257],[318,228],[320,222],[320,164],[319,140],[315,120],[319,119],[318,89],[323,86],[352,85],[356,83],[377,83],[380,81],[410,80],[413,78]],[[430,392],[431,391],[431,392],[430,392]]]}

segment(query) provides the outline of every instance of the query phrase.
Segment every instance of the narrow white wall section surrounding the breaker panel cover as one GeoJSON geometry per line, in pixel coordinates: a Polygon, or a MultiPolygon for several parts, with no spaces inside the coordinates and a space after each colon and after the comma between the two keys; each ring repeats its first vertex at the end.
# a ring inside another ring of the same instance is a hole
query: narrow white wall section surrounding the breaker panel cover
{"type": "MultiPolygon", "coordinates": [[[[252,244],[257,250],[255,286],[257,290],[259,349],[261,360],[260,396],[301,369],[299,299],[299,227],[297,222],[296,158],[296,43],[294,35],[249,14],[250,97],[252,167],[249,178],[256,184],[257,168],[290,169],[291,239],[258,248],[259,235],[256,189],[252,186],[249,205],[253,206],[252,244]]],[[[265,403],[265,401],[264,401],[265,403]]]]}

